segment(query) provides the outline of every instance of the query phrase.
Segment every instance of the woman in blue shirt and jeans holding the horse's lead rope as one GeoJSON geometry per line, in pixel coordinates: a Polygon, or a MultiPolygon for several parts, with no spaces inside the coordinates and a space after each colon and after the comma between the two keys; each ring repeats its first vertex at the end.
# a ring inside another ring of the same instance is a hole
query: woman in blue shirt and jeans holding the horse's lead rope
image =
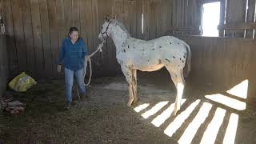
{"type": "Polygon", "coordinates": [[[71,27],[69,38],[64,38],[58,59],[58,72],[62,70],[64,63],[66,85],[66,109],[70,110],[72,102],[72,87],[74,76],[77,78],[79,93],[82,102],[86,98],[86,85],[84,83],[84,64],[87,54],[86,44],[79,38],[78,28],[71,27]]]}

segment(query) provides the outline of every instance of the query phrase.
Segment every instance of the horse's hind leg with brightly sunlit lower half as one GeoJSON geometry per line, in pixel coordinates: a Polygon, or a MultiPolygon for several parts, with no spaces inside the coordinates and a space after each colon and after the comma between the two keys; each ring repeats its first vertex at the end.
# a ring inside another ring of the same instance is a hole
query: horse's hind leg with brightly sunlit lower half
{"type": "Polygon", "coordinates": [[[176,115],[178,110],[180,110],[181,108],[182,95],[185,87],[185,80],[183,77],[182,70],[171,70],[168,67],[166,67],[166,69],[169,71],[171,79],[174,82],[174,85],[176,86],[176,89],[177,89],[176,101],[174,105],[174,115],[176,115]]]}

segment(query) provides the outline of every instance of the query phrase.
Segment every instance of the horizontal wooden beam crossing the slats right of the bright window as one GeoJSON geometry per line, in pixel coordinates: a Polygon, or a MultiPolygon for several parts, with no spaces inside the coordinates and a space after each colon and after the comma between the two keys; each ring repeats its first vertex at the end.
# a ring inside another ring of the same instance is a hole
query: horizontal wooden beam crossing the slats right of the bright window
{"type": "Polygon", "coordinates": [[[218,30],[252,30],[256,29],[255,22],[219,25],[218,30]]]}

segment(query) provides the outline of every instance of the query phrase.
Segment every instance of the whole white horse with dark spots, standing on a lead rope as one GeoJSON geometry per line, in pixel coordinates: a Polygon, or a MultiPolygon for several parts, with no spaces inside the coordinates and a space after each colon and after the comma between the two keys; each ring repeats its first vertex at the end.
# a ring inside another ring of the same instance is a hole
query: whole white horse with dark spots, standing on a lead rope
{"type": "Polygon", "coordinates": [[[186,73],[190,72],[190,46],[186,42],[172,36],[150,41],[132,38],[122,23],[108,18],[98,38],[112,38],[114,41],[116,58],[129,84],[128,106],[138,102],[136,70],[155,71],[165,66],[177,88],[174,114],[177,113],[185,86],[182,70],[186,64],[186,73]]]}

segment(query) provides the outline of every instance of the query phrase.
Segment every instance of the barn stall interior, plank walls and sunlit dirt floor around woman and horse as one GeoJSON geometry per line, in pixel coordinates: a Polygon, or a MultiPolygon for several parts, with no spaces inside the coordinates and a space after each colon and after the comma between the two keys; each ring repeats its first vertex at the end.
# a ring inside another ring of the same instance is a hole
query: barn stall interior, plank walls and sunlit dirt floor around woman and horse
{"type": "Polygon", "coordinates": [[[1,98],[26,103],[18,116],[1,114],[0,142],[256,142],[255,0],[1,0],[0,9],[1,98]],[[219,2],[218,37],[202,36],[203,6],[211,2],[219,2]],[[92,58],[90,98],[63,110],[62,39],[77,26],[93,53],[106,15],[134,38],[173,35],[190,46],[191,72],[176,116],[176,89],[165,69],[138,71],[139,101],[126,106],[126,79],[110,39],[92,58]],[[6,89],[22,72],[38,84],[24,93],[6,89]]]}

